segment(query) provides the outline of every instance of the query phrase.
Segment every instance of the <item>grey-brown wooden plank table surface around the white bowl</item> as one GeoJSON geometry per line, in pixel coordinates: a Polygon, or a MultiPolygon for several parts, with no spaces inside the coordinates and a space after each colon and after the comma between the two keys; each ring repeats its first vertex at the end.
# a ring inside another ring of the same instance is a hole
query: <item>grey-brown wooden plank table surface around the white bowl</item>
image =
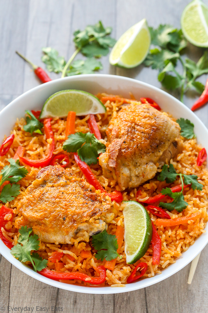
{"type": "MultiPolygon", "coordinates": [[[[72,39],[77,28],[84,29],[100,19],[105,26],[113,27],[112,36],[116,39],[142,18],[147,18],[150,26],[169,23],[179,28],[187,3],[189,0],[0,0],[0,110],[40,84],[15,50],[45,67],[41,63],[41,48],[51,46],[68,59],[75,49],[72,39]]],[[[191,45],[189,51],[195,59],[202,53],[191,45]]],[[[108,56],[102,58],[102,63],[104,69],[100,73],[128,76],[161,88],[157,70],[143,66],[130,70],[116,68],[109,65],[108,56]]],[[[57,77],[51,74],[52,79],[57,77]]],[[[201,81],[205,83],[206,76],[201,81]]],[[[192,98],[185,97],[189,107],[196,95],[190,96],[192,98]]],[[[208,126],[207,106],[196,115],[208,126]]],[[[48,312],[64,313],[207,313],[207,256],[208,246],[201,253],[191,285],[187,284],[189,264],[167,280],[142,290],[86,295],[45,285],[22,273],[0,255],[0,311],[21,312],[21,308],[27,306],[27,309],[32,307],[33,312],[49,307],[48,312]]]]}

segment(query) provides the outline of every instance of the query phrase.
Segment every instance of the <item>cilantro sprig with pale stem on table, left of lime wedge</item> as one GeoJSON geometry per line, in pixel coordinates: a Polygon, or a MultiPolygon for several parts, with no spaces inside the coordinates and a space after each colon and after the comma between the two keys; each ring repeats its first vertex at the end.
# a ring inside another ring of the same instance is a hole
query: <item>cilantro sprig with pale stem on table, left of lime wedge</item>
{"type": "Polygon", "coordinates": [[[102,69],[102,63],[95,58],[100,58],[109,53],[109,48],[113,47],[116,40],[109,35],[112,32],[111,27],[104,27],[99,21],[95,25],[88,25],[83,31],[74,32],[74,43],[76,50],[66,63],[63,56],[58,51],[46,47],[42,51],[42,61],[46,64],[49,72],[62,73],[61,77],[92,74],[94,71],[102,69]],[[82,53],[87,59],[78,59],[72,62],[78,53],[82,53]]]}

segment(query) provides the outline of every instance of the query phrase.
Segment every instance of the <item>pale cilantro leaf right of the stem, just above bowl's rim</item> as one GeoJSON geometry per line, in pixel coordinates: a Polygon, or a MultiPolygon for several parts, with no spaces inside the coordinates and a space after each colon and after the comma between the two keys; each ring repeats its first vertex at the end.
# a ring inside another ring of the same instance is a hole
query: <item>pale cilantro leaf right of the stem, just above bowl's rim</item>
{"type": "Polygon", "coordinates": [[[85,61],[76,60],[70,65],[70,69],[66,72],[66,75],[93,74],[94,71],[102,68],[102,64],[94,58],[89,58],[85,61]]]}

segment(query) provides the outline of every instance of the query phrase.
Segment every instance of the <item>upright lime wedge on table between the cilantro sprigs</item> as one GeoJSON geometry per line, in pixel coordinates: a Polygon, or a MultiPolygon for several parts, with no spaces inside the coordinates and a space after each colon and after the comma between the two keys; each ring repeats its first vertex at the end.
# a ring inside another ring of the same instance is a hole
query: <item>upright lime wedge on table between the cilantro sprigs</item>
{"type": "Polygon", "coordinates": [[[150,42],[151,36],[144,18],[119,38],[110,53],[110,64],[125,68],[139,65],[148,54],[150,42]]]}

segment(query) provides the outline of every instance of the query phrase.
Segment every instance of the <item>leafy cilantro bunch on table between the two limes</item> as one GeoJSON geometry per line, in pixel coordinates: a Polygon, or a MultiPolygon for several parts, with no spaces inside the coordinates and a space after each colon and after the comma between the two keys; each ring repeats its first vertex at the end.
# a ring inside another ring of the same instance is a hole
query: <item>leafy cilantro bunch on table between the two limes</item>
{"type": "Polygon", "coordinates": [[[196,63],[182,56],[187,41],[181,29],[171,25],[159,25],[156,29],[149,27],[149,30],[154,48],[144,60],[144,65],[159,69],[158,80],[167,90],[180,90],[181,101],[183,101],[184,93],[189,89],[195,89],[201,94],[204,85],[197,81],[197,78],[208,73],[207,51],[196,63]],[[176,69],[178,61],[182,65],[181,72],[176,69]]]}

